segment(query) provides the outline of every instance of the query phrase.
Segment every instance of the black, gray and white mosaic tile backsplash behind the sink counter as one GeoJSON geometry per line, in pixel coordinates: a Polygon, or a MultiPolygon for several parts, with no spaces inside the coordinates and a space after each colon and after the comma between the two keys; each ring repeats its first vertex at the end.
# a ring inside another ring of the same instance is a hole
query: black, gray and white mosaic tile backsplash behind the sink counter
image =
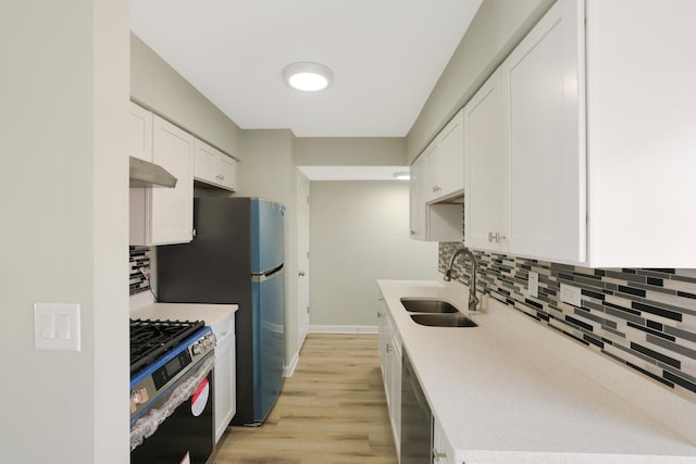
{"type": "MultiPolygon", "coordinates": [[[[461,242],[439,243],[445,272],[461,242]]],[[[588,268],[475,251],[476,285],[492,298],[696,402],[696,269],[588,268]],[[538,297],[527,294],[538,274],[538,297]],[[560,285],[582,291],[561,302],[560,285]]],[[[469,284],[458,259],[452,278],[469,284]]]]}

